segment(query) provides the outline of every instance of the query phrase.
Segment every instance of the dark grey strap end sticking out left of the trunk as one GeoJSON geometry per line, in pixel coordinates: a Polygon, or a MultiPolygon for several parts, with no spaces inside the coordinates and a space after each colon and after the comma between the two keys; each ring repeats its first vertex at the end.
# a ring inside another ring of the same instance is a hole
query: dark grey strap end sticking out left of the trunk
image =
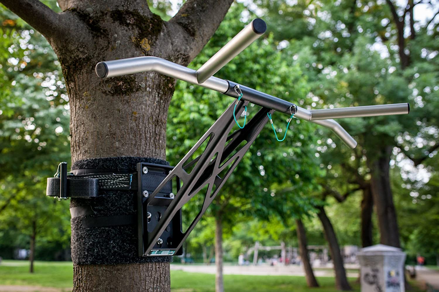
{"type": "MultiPolygon", "coordinates": [[[[46,195],[50,197],[59,197],[61,179],[59,177],[47,178],[46,195]]],[[[99,189],[98,179],[95,178],[68,178],[67,193],[68,197],[97,197],[99,189]]]]}

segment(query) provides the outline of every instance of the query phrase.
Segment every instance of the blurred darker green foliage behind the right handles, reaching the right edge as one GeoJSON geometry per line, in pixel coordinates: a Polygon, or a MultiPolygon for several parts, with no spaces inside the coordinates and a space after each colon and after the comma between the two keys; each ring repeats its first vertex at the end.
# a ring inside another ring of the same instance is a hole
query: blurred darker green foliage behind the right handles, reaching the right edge
{"type": "MultiPolygon", "coordinates": [[[[386,1],[299,0],[294,6],[286,0],[259,0],[255,3],[258,9],[262,9],[261,14],[268,21],[269,28],[275,32],[274,42],[281,49],[283,59],[291,65],[299,65],[306,74],[310,87],[308,97],[313,103],[299,100],[300,105],[320,109],[410,103],[408,116],[339,120],[359,142],[354,151],[324,129],[319,129],[318,133],[325,138],[311,147],[318,151],[322,171],[326,169],[326,175],[319,183],[342,194],[359,186],[361,181],[369,181],[369,165],[386,146],[393,147],[393,164],[405,164],[407,168],[407,164],[413,165],[407,158],[415,162],[422,159],[424,165],[409,168],[406,172],[411,172],[411,176],[419,171],[425,173],[424,176],[431,174],[428,183],[404,176],[399,168],[392,179],[396,201],[399,202],[397,211],[403,245],[409,250],[426,253],[428,236],[422,235],[421,230],[428,230],[429,239],[436,242],[439,239],[437,230],[431,231],[437,225],[426,229],[419,222],[420,214],[428,216],[425,223],[435,222],[436,210],[432,206],[439,196],[433,187],[437,184],[435,148],[439,144],[437,21],[432,23],[435,24],[433,30],[432,26],[427,29],[425,22],[415,21],[416,34],[406,39],[404,48],[410,53],[411,63],[404,68],[399,60],[395,21],[386,1]],[[423,160],[426,156],[428,159],[423,160]],[[431,199],[414,199],[410,193],[415,185],[420,197],[423,194],[426,198],[429,194],[431,199]]],[[[400,13],[404,8],[397,7],[400,13]]],[[[335,206],[334,202],[328,201],[328,209],[340,241],[358,243],[360,199],[345,201],[344,206],[335,206]],[[340,212],[342,217],[336,215],[340,212]],[[343,222],[347,218],[355,223],[346,226],[343,222]]],[[[428,246],[432,246],[429,253],[437,253],[435,244],[428,246]]]]}

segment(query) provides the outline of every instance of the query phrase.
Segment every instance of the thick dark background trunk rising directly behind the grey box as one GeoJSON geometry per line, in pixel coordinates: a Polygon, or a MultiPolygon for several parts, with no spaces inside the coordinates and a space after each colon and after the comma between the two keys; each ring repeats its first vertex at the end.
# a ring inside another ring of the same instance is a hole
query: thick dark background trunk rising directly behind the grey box
{"type": "Polygon", "coordinates": [[[371,192],[378,215],[380,242],[400,247],[398,222],[389,177],[392,147],[387,146],[374,153],[378,153],[378,157],[370,162],[369,168],[371,169],[371,192]]]}

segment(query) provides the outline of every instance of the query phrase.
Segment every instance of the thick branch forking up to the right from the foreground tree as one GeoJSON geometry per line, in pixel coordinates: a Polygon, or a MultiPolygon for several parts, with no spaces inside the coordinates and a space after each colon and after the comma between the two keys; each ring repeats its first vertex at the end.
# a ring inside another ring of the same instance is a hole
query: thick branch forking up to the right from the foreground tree
{"type": "MultiPolygon", "coordinates": [[[[177,24],[184,30],[176,30],[174,37],[186,43],[185,52],[189,54],[188,63],[200,53],[215,33],[233,0],[187,0],[169,23],[177,24]],[[186,50],[187,49],[187,50],[186,50]]],[[[176,48],[178,49],[178,48],[176,48]]]]}

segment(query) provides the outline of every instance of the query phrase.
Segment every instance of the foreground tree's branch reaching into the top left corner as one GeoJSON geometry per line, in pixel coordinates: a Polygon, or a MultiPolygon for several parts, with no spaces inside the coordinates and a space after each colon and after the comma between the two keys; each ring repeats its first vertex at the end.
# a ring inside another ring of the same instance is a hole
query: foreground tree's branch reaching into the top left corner
{"type": "Polygon", "coordinates": [[[0,2],[47,39],[64,33],[61,15],[38,0],[0,0],[0,2]]]}

